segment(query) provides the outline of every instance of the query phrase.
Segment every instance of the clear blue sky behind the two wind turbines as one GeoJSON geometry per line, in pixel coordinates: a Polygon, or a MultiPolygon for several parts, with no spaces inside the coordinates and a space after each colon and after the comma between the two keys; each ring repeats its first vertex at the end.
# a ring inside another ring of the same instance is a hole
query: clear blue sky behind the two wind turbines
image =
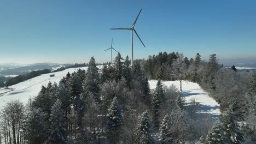
{"type": "MultiPolygon", "coordinates": [[[[113,47],[135,58],[160,51],[221,62],[256,60],[256,1],[9,1],[0,2],[0,63],[110,61],[113,47]]],[[[114,53],[115,55],[116,53],[114,53]]]]}

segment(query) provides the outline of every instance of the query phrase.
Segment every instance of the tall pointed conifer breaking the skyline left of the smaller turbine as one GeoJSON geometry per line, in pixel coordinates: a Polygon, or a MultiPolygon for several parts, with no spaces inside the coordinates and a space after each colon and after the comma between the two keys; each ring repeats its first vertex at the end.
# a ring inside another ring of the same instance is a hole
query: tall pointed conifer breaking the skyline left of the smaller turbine
{"type": "Polygon", "coordinates": [[[84,80],[84,92],[85,96],[92,93],[92,96],[96,101],[100,100],[100,76],[98,75],[98,68],[94,57],[91,57],[89,66],[87,69],[86,77],[84,80]]]}

